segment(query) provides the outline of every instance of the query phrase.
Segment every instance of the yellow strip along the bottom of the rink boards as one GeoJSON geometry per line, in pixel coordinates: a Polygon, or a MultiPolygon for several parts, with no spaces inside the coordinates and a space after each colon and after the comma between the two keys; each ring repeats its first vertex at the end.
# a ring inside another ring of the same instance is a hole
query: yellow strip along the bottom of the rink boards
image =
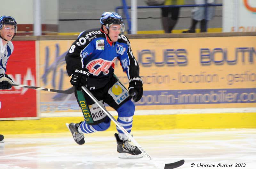
{"type": "MultiPolygon", "coordinates": [[[[117,116],[114,116],[117,118],[117,116]]],[[[255,128],[256,113],[209,113],[134,116],[132,130],[255,128]]],[[[66,123],[82,117],[45,117],[40,120],[1,121],[1,134],[68,132],[66,123]]],[[[111,122],[108,131],[116,131],[111,122]]]]}

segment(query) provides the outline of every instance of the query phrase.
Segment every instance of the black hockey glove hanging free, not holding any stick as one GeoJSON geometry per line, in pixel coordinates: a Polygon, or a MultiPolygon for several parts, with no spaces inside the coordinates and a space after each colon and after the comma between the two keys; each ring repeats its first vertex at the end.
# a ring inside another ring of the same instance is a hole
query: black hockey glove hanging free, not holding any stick
{"type": "Polygon", "coordinates": [[[134,77],[129,80],[129,95],[132,96],[134,102],[138,102],[143,95],[143,81],[140,77],[134,77]]]}

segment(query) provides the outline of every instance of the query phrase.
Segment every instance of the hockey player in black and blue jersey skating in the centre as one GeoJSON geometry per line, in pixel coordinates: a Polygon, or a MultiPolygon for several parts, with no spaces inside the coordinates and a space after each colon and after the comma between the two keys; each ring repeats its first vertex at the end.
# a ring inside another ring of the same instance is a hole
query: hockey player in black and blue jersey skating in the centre
{"type": "MultiPolygon", "coordinates": [[[[102,104],[118,112],[117,121],[130,133],[135,106],[143,95],[139,65],[133,56],[130,42],[122,32],[124,24],[117,13],[104,12],[101,28],[81,32],[65,57],[70,83],[82,109],[84,121],[67,124],[77,144],[84,144],[84,133],[107,130],[110,118],[81,90],[85,86],[102,104]],[[129,79],[128,90],[114,75],[118,59],[129,79]]],[[[129,144],[128,137],[116,127],[117,152],[120,158],[141,158],[138,147],[129,144]]]]}

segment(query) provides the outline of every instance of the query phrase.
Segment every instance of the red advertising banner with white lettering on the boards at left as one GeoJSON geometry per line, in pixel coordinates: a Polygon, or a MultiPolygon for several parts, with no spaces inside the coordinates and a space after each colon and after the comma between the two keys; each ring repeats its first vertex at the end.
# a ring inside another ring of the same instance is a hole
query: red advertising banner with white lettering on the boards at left
{"type": "MultiPolygon", "coordinates": [[[[14,83],[36,86],[35,41],[13,41],[14,51],[7,62],[6,74],[14,83]]],[[[0,90],[0,120],[37,117],[36,90],[12,87],[0,90]]]]}

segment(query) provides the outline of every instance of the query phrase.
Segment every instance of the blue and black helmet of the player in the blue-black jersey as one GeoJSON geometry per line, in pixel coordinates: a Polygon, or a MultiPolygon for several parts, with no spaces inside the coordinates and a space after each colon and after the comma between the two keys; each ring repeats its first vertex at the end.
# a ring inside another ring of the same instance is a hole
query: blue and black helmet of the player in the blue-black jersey
{"type": "Polygon", "coordinates": [[[124,22],[122,17],[116,12],[104,12],[100,18],[100,24],[107,28],[112,24],[121,25],[121,32],[124,32],[124,22]]]}

